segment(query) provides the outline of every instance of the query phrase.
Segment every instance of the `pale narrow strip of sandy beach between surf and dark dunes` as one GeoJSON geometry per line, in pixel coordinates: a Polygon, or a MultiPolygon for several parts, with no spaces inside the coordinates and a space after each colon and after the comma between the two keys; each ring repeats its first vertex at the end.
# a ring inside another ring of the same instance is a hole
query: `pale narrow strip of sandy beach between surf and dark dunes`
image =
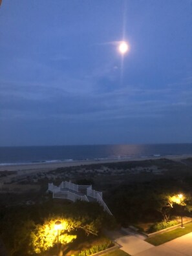
{"type": "Polygon", "coordinates": [[[48,172],[60,167],[91,165],[91,164],[105,164],[115,162],[127,162],[127,161],[144,161],[144,160],[156,160],[161,158],[167,158],[169,160],[180,161],[185,158],[192,158],[192,155],[168,155],[168,156],[151,156],[146,158],[123,158],[123,159],[106,159],[106,160],[87,160],[87,161],[71,161],[71,162],[45,162],[36,164],[19,164],[19,165],[1,165],[0,171],[17,171],[17,175],[48,172]]]}

